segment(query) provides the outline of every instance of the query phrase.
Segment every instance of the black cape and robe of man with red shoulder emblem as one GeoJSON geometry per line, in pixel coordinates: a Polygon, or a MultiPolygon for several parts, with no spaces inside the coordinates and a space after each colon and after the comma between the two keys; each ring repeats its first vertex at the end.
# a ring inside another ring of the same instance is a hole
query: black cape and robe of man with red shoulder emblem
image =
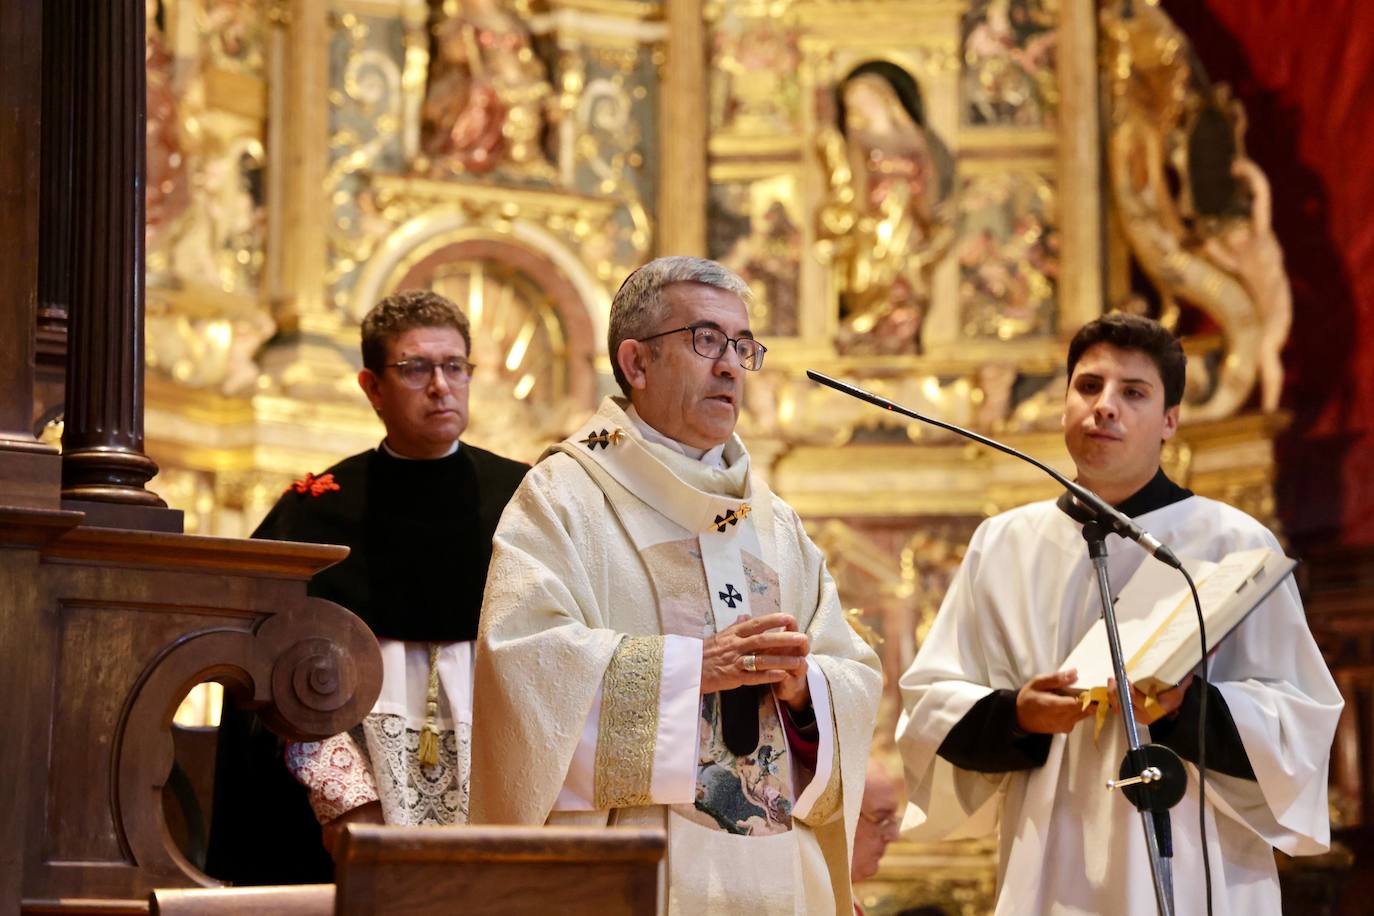
{"type": "MultiPolygon", "coordinates": [[[[528,470],[467,444],[434,460],[363,452],[289,489],[253,537],[352,548],[308,592],[349,608],[381,639],[473,640],[492,536],[528,470]]],[[[206,854],[213,878],[334,880],[308,792],[284,758],[284,739],[225,696],[206,854]]]]}

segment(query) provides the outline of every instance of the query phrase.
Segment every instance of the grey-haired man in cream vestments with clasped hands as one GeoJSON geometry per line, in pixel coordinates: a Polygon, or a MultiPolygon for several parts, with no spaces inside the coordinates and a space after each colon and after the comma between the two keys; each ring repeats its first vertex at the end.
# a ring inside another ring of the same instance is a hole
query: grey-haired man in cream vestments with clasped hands
{"type": "Polygon", "coordinates": [[[851,913],[881,676],[734,434],[765,352],[747,295],[683,257],[616,294],[627,397],[545,453],[496,531],[471,820],[666,827],[669,913],[851,913]]]}

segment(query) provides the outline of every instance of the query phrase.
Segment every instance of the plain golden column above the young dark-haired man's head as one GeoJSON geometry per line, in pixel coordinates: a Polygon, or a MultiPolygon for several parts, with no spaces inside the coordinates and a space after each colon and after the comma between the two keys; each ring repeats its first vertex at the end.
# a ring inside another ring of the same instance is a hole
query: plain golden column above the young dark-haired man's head
{"type": "Polygon", "coordinates": [[[1102,108],[1096,0],[1063,0],[1059,19],[1059,334],[1102,314],[1102,108]]]}

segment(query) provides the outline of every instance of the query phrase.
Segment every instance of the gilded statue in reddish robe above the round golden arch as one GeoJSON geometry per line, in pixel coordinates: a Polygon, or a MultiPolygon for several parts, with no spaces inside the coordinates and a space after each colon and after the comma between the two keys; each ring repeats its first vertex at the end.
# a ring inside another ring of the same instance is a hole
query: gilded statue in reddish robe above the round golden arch
{"type": "Polygon", "coordinates": [[[502,168],[554,177],[543,148],[554,108],[544,63],[499,0],[447,0],[420,110],[420,163],[436,177],[502,168]]]}

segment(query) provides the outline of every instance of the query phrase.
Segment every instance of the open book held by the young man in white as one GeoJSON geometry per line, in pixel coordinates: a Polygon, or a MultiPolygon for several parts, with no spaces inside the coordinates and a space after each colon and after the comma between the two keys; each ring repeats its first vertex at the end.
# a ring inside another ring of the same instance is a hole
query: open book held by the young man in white
{"type": "MultiPolygon", "coordinates": [[[[1183,566],[1197,582],[1212,650],[1278,588],[1297,562],[1261,547],[1228,553],[1220,563],[1184,558],[1183,566]]],[[[1153,696],[1173,687],[1202,661],[1193,593],[1178,570],[1146,560],[1117,596],[1116,615],[1127,677],[1145,694],[1153,696]]],[[[1112,654],[1101,618],[1059,667],[1079,669],[1079,680],[1065,692],[1106,687],[1112,654]]]]}

